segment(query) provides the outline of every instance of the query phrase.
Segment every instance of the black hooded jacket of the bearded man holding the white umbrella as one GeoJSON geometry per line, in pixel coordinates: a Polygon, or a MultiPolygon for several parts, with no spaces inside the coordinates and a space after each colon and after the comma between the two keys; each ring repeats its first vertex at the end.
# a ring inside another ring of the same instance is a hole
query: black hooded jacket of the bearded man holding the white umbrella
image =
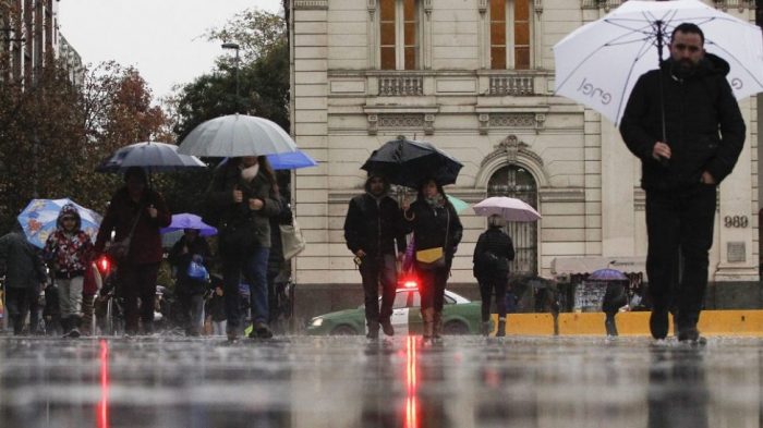
{"type": "Polygon", "coordinates": [[[734,169],[744,144],[744,122],[726,81],[728,63],[707,53],[693,74],[681,76],[671,60],[643,74],[628,100],[620,133],[642,162],[641,187],[677,189],[695,185],[703,171],[716,183],[734,169]],[[671,157],[667,168],[652,158],[663,139],[661,84],[665,129],[671,157]]]}

